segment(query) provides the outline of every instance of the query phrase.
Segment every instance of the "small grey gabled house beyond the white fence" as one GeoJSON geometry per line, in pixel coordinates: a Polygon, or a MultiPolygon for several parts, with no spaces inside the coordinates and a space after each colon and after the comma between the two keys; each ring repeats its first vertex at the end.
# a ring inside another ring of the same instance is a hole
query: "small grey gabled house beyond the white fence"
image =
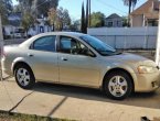
{"type": "Polygon", "coordinates": [[[122,18],[116,13],[113,13],[105,19],[105,26],[107,26],[107,28],[121,28],[122,26],[122,18]]]}

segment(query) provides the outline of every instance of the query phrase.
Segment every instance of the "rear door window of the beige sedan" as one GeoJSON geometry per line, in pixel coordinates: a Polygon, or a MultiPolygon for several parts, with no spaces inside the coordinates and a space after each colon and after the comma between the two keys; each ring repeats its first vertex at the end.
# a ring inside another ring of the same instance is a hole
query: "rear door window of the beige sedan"
{"type": "Polygon", "coordinates": [[[33,50],[55,52],[55,38],[56,36],[40,37],[33,43],[33,50]]]}

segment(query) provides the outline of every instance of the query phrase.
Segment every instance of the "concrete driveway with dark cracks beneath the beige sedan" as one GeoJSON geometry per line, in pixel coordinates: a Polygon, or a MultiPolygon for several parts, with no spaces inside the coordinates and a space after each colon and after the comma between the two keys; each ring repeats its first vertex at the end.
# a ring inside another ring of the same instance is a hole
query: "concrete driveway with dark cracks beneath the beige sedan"
{"type": "Polygon", "coordinates": [[[132,94],[124,101],[99,90],[38,82],[33,90],[19,88],[13,78],[0,81],[0,110],[82,121],[141,121],[160,117],[160,89],[132,94]]]}

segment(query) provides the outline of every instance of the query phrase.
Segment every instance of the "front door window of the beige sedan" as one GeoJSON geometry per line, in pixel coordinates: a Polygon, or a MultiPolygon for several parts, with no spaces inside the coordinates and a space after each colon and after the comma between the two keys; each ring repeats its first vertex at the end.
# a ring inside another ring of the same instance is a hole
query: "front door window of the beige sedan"
{"type": "Polygon", "coordinates": [[[83,52],[85,50],[87,50],[87,47],[81,42],[76,41],[75,38],[67,37],[67,36],[60,37],[60,52],[61,53],[84,55],[83,52]]]}

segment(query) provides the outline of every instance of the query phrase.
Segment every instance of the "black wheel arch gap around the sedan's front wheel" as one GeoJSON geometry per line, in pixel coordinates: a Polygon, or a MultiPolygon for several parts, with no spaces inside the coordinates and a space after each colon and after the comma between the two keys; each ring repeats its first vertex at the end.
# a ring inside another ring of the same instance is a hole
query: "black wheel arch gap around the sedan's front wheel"
{"type": "Polygon", "coordinates": [[[135,81],[134,81],[132,75],[131,75],[128,70],[126,70],[126,69],[124,69],[124,68],[119,68],[119,67],[111,68],[111,69],[109,69],[109,70],[105,74],[105,76],[104,76],[104,78],[103,78],[102,89],[104,89],[105,78],[106,78],[110,73],[114,73],[114,72],[124,72],[124,73],[126,73],[126,74],[130,77],[130,79],[131,79],[131,82],[132,82],[132,91],[135,91],[135,81]]]}

